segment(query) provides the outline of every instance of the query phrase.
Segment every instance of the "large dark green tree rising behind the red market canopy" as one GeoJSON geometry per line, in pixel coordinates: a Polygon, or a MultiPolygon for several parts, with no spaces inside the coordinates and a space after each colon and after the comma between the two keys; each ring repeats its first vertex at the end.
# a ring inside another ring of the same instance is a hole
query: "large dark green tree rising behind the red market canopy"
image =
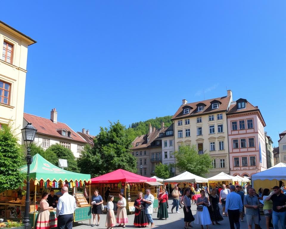
{"type": "Polygon", "coordinates": [[[137,160],[129,151],[132,140],[125,126],[119,121],[109,123],[109,129],[100,127],[100,133],[94,138],[94,147],[86,146],[77,158],[80,171],[91,174],[91,177],[119,168],[137,172],[137,160]]]}

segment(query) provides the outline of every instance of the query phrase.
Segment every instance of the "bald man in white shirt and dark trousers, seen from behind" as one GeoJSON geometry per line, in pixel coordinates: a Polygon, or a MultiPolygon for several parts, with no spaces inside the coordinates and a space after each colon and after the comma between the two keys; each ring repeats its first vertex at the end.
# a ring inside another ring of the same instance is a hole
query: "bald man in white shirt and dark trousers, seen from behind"
{"type": "Polygon", "coordinates": [[[75,199],[68,193],[68,188],[64,186],[61,189],[63,194],[57,202],[57,229],[72,229],[74,220],[74,210],[77,208],[75,199]]]}

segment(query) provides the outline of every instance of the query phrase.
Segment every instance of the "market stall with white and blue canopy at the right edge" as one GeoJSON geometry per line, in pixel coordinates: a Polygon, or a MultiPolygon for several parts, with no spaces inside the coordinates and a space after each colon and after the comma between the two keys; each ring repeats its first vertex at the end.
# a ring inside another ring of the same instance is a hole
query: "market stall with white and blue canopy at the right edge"
{"type": "Polygon", "coordinates": [[[286,164],[278,163],[260,173],[251,175],[251,182],[255,190],[259,188],[269,188],[274,186],[281,187],[282,182],[286,184],[286,164]]]}

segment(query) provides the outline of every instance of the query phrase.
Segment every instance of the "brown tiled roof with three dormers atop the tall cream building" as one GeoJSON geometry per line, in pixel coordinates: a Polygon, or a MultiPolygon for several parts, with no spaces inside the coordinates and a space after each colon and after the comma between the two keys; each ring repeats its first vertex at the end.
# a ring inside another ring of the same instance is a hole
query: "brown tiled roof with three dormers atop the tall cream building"
{"type": "Polygon", "coordinates": [[[224,97],[220,97],[220,98],[214,98],[214,99],[208,99],[208,100],[198,101],[198,102],[194,102],[194,103],[183,104],[179,107],[179,109],[177,110],[175,115],[172,117],[172,119],[182,118],[182,117],[190,117],[190,116],[196,116],[196,115],[205,115],[205,114],[209,114],[209,113],[213,113],[213,112],[226,111],[228,108],[228,105],[229,105],[230,98],[231,98],[230,96],[224,96],[224,97]],[[219,108],[217,108],[217,109],[212,109],[211,102],[214,100],[217,100],[218,102],[221,103],[219,105],[219,108]],[[197,105],[199,103],[203,103],[206,106],[204,107],[203,111],[197,112],[197,105]],[[184,114],[183,107],[185,107],[185,106],[190,107],[190,112],[188,114],[184,114]]]}

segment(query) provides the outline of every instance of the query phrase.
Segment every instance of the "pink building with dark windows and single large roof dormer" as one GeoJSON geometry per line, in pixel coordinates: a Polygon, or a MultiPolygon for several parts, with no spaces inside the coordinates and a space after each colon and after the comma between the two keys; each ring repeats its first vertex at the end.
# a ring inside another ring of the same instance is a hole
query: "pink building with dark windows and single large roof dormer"
{"type": "Polygon", "coordinates": [[[250,177],[267,169],[266,124],[258,107],[240,98],[231,103],[226,116],[230,175],[250,177]]]}

